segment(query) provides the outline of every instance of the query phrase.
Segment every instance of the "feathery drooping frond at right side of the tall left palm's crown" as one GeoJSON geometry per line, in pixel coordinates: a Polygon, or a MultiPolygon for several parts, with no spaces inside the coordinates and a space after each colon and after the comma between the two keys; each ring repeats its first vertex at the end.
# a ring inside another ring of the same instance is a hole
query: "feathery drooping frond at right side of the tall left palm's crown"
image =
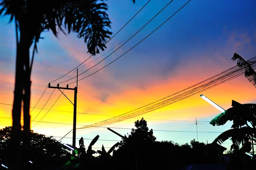
{"type": "Polygon", "coordinates": [[[106,3],[98,0],[80,0],[79,3],[67,3],[64,7],[64,26],[68,33],[75,32],[77,37],[87,43],[88,52],[95,55],[99,49],[106,48],[106,39],[112,34],[106,3]]]}

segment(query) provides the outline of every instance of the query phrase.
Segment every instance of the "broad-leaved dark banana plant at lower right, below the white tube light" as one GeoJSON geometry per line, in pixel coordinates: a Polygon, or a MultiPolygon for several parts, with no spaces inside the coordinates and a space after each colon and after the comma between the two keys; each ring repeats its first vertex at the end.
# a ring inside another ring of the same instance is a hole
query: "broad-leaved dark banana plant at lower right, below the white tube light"
{"type": "Polygon", "coordinates": [[[256,141],[256,104],[240,104],[232,101],[232,106],[210,122],[213,126],[220,126],[227,121],[233,121],[231,129],[221,133],[213,143],[222,144],[230,138],[233,142],[230,150],[237,150],[240,144],[243,144],[240,150],[244,153],[250,152],[250,141],[256,141]]]}

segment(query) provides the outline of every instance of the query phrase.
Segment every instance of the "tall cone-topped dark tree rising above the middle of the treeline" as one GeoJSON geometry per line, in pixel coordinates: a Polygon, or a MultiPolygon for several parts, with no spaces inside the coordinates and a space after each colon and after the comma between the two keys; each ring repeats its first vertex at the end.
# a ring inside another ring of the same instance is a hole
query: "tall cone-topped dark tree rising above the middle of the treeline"
{"type": "Polygon", "coordinates": [[[142,118],[140,121],[134,122],[136,129],[132,128],[131,134],[125,135],[125,139],[120,141],[119,149],[116,150],[113,156],[118,163],[118,168],[122,169],[145,169],[148,164],[143,164],[145,161],[150,161],[152,158],[151,151],[154,148],[156,137],[153,135],[153,130],[149,130],[147,121],[142,118]],[[133,162],[127,166],[123,166],[126,161],[133,162]]]}

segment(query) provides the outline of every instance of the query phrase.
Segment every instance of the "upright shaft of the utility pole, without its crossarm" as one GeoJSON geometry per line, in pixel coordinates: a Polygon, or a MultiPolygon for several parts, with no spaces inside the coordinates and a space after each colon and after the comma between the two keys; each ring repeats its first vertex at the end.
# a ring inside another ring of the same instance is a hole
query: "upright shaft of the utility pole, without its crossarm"
{"type": "MultiPolygon", "coordinates": [[[[78,83],[78,69],[76,70],[76,87],[75,87],[75,92],[74,92],[74,118],[73,118],[73,148],[76,148],[76,100],[77,100],[77,83],[78,83]]],[[[73,150],[72,156],[75,156],[76,153],[73,150]]]]}

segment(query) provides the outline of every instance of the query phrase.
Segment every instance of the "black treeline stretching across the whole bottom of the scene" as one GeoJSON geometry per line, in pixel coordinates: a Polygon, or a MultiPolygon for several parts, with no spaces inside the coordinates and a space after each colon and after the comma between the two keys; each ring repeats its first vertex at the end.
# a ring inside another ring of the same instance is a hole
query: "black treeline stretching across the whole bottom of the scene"
{"type": "MultiPolygon", "coordinates": [[[[0,163],[5,166],[12,164],[12,150],[10,146],[11,127],[0,130],[0,163]]],[[[36,170],[153,170],[172,169],[186,170],[192,164],[209,164],[224,169],[234,167],[250,167],[253,159],[242,156],[237,151],[229,151],[223,155],[226,148],[218,144],[204,144],[193,139],[190,143],[179,145],[173,141],[157,141],[153,130],[149,130],[147,122],[142,118],[135,121],[135,128],[131,130],[108,151],[102,145],[102,150],[93,150],[97,142],[97,135],[89,146],[84,146],[83,138],[79,140],[76,156],[72,157],[67,147],[52,137],[47,137],[31,131],[31,148],[28,151],[30,160],[28,169],[36,170]],[[87,149],[86,149],[87,148],[87,149]],[[99,156],[95,154],[98,153],[99,156]],[[230,161],[228,158],[231,158],[230,161]]],[[[22,145],[22,144],[21,144],[22,145]]],[[[71,146],[71,145],[70,145],[71,146]]],[[[255,165],[254,165],[255,166],[255,165]]],[[[6,169],[5,167],[0,167],[6,169]]]]}

